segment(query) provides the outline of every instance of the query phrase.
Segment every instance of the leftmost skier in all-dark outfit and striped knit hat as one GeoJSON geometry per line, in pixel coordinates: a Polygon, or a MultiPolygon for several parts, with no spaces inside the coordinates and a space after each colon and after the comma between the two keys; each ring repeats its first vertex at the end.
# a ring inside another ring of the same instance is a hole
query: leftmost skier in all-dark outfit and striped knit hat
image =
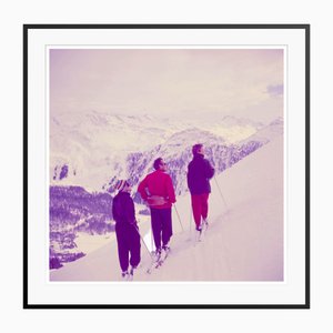
{"type": "Polygon", "coordinates": [[[140,233],[135,220],[134,202],[130,195],[131,185],[125,180],[115,184],[118,194],[113,198],[112,215],[115,221],[119,263],[124,280],[132,280],[140,263],[140,233]],[[129,264],[131,268],[129,269],[129,264]]]}

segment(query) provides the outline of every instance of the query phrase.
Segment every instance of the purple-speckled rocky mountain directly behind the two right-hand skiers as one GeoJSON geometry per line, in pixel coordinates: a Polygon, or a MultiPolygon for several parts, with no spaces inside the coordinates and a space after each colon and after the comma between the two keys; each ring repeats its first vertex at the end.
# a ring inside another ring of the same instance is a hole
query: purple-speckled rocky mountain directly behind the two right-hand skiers
{"type": "Polygon", "coordinates": [[[129,179],[133,184],[138,184],[147,173],[153,171],[152,164],[154,159],[162,157],[168,163],[168,172],[172,178],[176,194],[185,193],[188,191],[188,164],[192,159],[192,145],[198,138],[204,144],[205,157],[215,168],[216,174],[263,144],[260,141],[252,140],[242,144],[228,144],[223,138],[208,131],[199,129],[184,130],[173,134],[163,144],[159,144],[150,151],[129,154],[127,160],[129,179]]]}

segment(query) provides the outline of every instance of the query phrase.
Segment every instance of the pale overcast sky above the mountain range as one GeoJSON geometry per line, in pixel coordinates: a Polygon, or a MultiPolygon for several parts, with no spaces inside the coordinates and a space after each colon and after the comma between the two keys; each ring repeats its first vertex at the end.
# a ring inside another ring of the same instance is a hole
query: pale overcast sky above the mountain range
{"type": "Polygon", "coordinates": [[[53,49],[50,110],[269,122],[283,117],[283,50],[53,49]]]}

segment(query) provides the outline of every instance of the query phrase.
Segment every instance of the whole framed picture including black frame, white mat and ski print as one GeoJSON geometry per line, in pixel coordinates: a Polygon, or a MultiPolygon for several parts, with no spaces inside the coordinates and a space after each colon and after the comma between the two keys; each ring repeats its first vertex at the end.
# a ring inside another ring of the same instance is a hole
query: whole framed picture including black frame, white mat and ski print
{"type": "Polygon", "coordinates": [[[309,309],[310,26],[23,26],[24,309],[309,309]]]}

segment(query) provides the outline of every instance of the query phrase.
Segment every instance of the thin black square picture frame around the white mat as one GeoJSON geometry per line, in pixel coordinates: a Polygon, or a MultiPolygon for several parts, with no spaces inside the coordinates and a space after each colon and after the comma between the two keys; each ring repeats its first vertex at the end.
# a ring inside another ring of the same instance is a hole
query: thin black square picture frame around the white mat
{"type": "Polygon", "coordinates": [[[311,294],[311,271],[310,271],[310,24],[23,24],[23,309],[310,309],[311,294]],[[283,30],[296,29],[304,32],[305,38],[305,290],[304,303],[300,304],[36,304],[29,302],[29,258],[28,258],[28,242],[29,242],[29,198],[28,189],[33,184],[28,182],[28,122],[29,122],[29,91],[33,87],[29,87],[29,32],[32,30],[51,30],[51,29],[268,29],[268,30],[283,30]]]}

